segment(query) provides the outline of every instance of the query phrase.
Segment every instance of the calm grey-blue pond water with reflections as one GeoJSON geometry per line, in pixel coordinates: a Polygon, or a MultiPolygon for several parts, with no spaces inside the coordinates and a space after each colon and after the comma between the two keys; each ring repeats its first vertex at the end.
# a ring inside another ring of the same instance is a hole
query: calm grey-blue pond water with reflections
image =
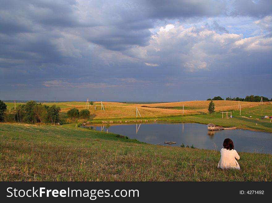
{"type": "MultiPolygon", "coordinates": [[[[105,124],[90,124],[98,131],[106,131],[105,124]]],[[[171,146],[195,146],[199,149],[220,150],[225,138],[232,139],[234,149],[238,152],[267,153],[272,152],[272,133],[256,132],[243,129],[208,131],[206,125],[197,123],[172,123],[165,121],[130,122],[111,124],[108,132],[122,134],[149,144],[176,142],[171,146]]]]}

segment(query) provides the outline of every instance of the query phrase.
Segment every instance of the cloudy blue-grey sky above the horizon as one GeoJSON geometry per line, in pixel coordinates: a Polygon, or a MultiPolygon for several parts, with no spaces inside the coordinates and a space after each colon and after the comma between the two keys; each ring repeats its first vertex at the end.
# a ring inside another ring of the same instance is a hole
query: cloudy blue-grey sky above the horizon
{"type": "Polygon", "coordinates": [[[0,99],[272,97],[271,0],[9,0],[0,99]]]}

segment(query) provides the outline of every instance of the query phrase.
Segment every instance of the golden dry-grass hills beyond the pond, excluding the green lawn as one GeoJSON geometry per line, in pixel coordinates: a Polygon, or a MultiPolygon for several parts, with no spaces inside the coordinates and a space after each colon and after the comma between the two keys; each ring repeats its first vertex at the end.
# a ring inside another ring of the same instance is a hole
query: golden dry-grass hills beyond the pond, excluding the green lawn
{"type": "MultiPolygon", "coordinates": [[[[133,119],[136,118],[136,107],[138,108],[142,118],[158,118],[172,116],[186,116],[208,113],[210,101],[187,101],[187,102],[172,102],[159,104],[124,104],[118,102],[103,102],[105,112],[101,110],[101,103],[94,102],[94,105],[89,105],[91,112],[91,120],[102,119],[133,119]],[[184,105],[184,114],[182,108],[184,105]],[[95,110],[95,107],[97,110],[95,110]]],[[[215,111],[238,110],[238,101],[214,101],[215,111]]],[[[265,102],[264,104],[268,104],[265,102]]],[[[14,107],[14,103],[6,103],[7,108],[14,107]]],[[[56,104],[61,110],[61,117],[66,118],[66,112],[71,108],[79,110],[86,108],[86,102],[61,102],[61,103],[46,103],[52,106],[56,104]]],[[[17,103],[16,105],[19,105],[17,103]]],[[[242,109],[259,106],[258,102],[240,102],[242,109]]]]}

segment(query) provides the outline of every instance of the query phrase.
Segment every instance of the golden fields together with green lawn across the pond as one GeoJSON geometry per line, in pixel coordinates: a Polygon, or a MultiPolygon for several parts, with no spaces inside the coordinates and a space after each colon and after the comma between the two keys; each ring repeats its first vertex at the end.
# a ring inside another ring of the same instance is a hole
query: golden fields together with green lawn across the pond
{"type": "MultiPolygon", "coordinates": [[[[101,110],[101,102],[94,102],[94,105],[89,105],[91,112],[89,121],[120,121],[120,120],[136,120],[136,107],[142,117],[138,120],[166,120],[166,121],[185,121],[197,123],[214,123],[215,125],[233,126],[243,129],[252,129],[265,132],[272,132],[272,123],[270,119],[258,121],[256,126],[256,118],[267,115],[272,116],[272,104],[264,102],[260,105],[259,102],[238,102],[238,101],[214,101],[216,112],[228,111],[233,113],[232,119],[222,119],[221,113],[213,115],[208,113],[208,105],[210,101],[187,101],[187,102],[172,102],[159,104],[124,104],[118,102],[103,102],[105,111],[101,110]],[[238,104],[241,105],[242,116],[253,116],[245,119],[240,117],[238,104]],[[184,114],[182,108],[184,105],[184,114]],[[95,107],[97,110],[95,110],[95,107]]],[[[7,108],[14,107],[14,103],[6,103],[7,108]]],[[[63,102],[63,103],[46,103],[52,106],[56,104],[62,110],[60,119],[64,122],[69,122],[66,112],[71,108],[79,110],[86,108],[86,102],[63,102]]],[[[16,105],[19,105],[16,104],[16,105]]],[[[81,121],[79,121],[81,122],[81,121]]]]}

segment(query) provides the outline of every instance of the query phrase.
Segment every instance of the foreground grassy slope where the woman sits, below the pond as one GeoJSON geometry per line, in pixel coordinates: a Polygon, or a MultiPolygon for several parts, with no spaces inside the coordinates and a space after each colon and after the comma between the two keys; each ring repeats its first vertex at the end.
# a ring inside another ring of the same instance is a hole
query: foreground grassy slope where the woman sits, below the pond
{"type": "Polygon", "coordinates": [[[0,139],[0,181],[272,180],[271,154],[241,152],[240,171],[218,170],[219,151],[154,146],[69,125],[0,124],[0,139]]]}

